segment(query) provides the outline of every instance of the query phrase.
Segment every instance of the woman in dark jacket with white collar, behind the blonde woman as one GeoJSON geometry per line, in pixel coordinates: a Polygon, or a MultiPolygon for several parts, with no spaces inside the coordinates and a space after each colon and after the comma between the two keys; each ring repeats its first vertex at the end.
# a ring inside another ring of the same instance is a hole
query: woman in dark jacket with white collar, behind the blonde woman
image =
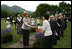
{"type": "Polygon", "coordinates": [[[22,17],[20,16],[20,13],[17,13],[17,18],[16,18],[16,29],[17,29],[17,33],[20,36],[20,41],[23,41],[23,37],[21,34],[21,26],[22,26],[22,17]]]}

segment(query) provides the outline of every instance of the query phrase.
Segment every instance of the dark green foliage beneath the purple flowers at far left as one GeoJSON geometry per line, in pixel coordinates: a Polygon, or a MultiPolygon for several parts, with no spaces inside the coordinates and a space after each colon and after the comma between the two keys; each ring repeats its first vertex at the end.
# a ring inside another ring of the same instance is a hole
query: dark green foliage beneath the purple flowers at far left
{"type": "Polygon", "coordinates": [[[11,34],[11,32],[6,32],[4,34],[1,34],[1,44],[5,44],[8,43],[10,41],[12,41],[13,36],[11,34]]]}

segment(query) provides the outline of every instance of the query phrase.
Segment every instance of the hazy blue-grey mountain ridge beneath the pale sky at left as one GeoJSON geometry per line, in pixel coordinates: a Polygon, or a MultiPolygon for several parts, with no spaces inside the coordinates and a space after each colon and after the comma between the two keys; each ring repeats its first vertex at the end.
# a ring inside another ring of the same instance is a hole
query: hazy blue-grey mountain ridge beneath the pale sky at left
{"type": "MultiPolygon", "coordinates": [[[[5,5],[5,4],[1,5],[1,9],[8,10],[8,11],[14,12],[14,13],[17,13],[17,12],[23,13],[24,11],[28,11],[26,9],[23,9],[23,8],[17,6],[17,5],[13,5],[10,7],[10,6],[5,5]]],[[[29,12],[29,14],[33,13],[33,11],[28,11],[28,12],[29,12]]]]}

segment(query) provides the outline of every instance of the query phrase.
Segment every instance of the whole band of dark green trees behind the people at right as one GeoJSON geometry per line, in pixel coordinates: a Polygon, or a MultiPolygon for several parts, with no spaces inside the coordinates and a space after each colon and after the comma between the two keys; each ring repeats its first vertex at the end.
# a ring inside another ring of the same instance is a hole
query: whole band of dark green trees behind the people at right
{"type": "Polygon", "coordinates": [[[32,14],[34,17],[42,17],[45,13],[49,15],[56,13],[71,14],[71,5],[65,2],[60,2],[59,5],[39,4],[36,11],[32,14]]]}

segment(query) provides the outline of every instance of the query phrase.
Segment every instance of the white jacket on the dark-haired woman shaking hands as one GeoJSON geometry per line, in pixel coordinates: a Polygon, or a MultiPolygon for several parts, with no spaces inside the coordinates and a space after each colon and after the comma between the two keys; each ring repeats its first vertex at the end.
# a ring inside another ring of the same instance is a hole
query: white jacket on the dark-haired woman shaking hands
{"type": "Polygon", "coordinates": [[[44,32],[44,36],[52,35],[51,27],[47,20],[43,21],[43,26],[41,26],[41,29],[44,32]]]}

